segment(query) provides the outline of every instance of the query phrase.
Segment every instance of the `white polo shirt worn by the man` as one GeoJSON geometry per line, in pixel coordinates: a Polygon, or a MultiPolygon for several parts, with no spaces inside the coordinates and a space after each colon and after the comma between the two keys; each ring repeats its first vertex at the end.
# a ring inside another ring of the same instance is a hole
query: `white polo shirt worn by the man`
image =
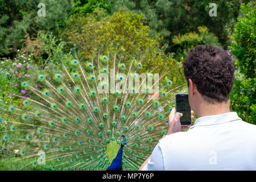
{"type": "Polygon", "coordinates": [[[256,170],[256,125],[236,112],[198,118],[159,140],[143,170],[256,170]]]}

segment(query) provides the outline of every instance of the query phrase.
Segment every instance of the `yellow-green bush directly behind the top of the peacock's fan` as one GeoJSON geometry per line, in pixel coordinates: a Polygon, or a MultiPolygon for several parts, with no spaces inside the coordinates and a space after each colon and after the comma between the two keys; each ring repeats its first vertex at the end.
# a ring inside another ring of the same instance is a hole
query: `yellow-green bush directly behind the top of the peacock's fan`
{"type": "Polygon", "coordinates": [[[128,61],[134,57],[143,59],[143,71],[153,68],[154,73],[170,71],[169,78],[177,77],[174,82],[184,82],[177,60],[165,54],[165,46],[160,48],[161,37],[150,37],[149,31],[149,26],[143,24],[143,15],[121,9],[103,18],[91,14],[86,17],[74,15],[67,22],[61,38],[69,42],[69,48],[76,44],[83,60],[90,60],[99,49],[106,54],[123,50],[123,57],[128,61]]]}

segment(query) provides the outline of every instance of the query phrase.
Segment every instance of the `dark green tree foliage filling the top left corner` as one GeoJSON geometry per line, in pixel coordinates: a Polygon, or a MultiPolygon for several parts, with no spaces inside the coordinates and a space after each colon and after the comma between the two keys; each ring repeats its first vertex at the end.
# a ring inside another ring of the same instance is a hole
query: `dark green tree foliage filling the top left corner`
{"type": "Polygon", "coordinates": [[[0,1],[0,56],[15,57],[25,32],[30,36],[37,35],[39,30],[56,34],[72,10],[71,1],[66,0],[0,1]],[[46,16],[38,16],[39,3],[45,5],[46,16]]]}

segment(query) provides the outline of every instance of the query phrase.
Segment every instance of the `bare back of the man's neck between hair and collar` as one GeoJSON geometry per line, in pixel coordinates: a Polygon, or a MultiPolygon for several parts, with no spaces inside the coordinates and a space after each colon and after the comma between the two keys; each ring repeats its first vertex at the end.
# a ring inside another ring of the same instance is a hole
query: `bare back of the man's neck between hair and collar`
{"type": "Polygon", "coordinates": [[[222,102],[218,104],[207,104],[206,102],[201,102],[199,104],[197,110],[197,117],[204,117],[207,115],[217,115],[217,114],[224,114],[229,113],[229,102],[222,102]]]}

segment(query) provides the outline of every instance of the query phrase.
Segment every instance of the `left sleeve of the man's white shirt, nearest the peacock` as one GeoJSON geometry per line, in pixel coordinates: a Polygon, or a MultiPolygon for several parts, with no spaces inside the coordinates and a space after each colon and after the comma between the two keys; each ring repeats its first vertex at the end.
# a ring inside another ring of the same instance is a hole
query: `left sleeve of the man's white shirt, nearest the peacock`
{"type": "Polygon", "coordinates": [[[163,164],[163,154],[158,143],[151,154],[151,158],[149,162],[143,168],[143,171],[164,171],[164,170],[165,170],[165,166],[163,164]]]}

